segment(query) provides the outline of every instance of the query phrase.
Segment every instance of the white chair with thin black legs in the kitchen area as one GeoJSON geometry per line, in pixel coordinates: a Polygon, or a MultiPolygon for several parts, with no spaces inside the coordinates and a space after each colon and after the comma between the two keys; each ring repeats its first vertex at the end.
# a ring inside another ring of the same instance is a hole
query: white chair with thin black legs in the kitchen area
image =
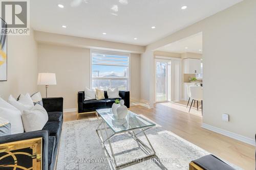
{"type": "Polygon", "coordinates": [[[202,114],[203,114],[203,88],[201,86],[189,86],[189,98],[192,99],[189,111],[191,109],[192,103],[197,101],[197,110],[198,110],[198,101],[202,103],[202,114]]]}

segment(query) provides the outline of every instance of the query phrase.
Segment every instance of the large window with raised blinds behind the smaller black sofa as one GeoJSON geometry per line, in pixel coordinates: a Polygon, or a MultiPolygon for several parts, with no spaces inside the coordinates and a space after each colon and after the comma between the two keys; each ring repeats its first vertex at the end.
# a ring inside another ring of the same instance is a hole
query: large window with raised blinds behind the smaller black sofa
{"type": "Polygon", "coordinates": [[[91,87],[129,90],[130,54],[91,51],[91,87]]]}

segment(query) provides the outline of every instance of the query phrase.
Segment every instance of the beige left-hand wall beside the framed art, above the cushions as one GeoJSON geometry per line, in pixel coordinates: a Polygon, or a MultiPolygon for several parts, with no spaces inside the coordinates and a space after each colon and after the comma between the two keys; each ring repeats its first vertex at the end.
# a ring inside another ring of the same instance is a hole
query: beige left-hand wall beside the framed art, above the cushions
{"type": "Polygon", "coordinates": [[[20,93],[37,91],[37,43],[34,31],[29,36],[7,38],[7,81],[0,82],[0,96],[16,98],[20,93]]]}

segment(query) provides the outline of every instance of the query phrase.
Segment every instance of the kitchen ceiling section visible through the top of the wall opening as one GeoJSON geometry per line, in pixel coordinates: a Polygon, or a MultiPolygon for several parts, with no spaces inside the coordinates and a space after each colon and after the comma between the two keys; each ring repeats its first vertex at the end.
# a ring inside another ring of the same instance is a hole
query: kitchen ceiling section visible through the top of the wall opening
{"type": "Polygon", "coordinates": [[[171,53],[198,53],[202,54],[203,50],[203,34],[198,33],[179,41],[164,45],[157,49],[158,51],[171,53]],[[201,51],[200,51],[201,50],[201,51]]]}

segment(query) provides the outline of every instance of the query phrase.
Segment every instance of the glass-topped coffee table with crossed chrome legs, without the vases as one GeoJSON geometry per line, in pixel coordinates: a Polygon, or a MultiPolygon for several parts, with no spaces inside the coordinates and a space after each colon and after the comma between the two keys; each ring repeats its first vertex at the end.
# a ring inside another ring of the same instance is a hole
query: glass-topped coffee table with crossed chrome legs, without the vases
{"type": "Polygon", "coordinates": [[[96,132],[102,142],[103,148],[106,151],[106,154],[110,157],[111,163],[115,166],[116,169],[121,169],[127,166],[134,165],[136,163],[140,163],[146,161],[148,159],[157,158],[156,152],[152,147],[150,140],[148,140],[145,131],[155,127],[156,124],[150,122],[149,120],[140,117],[139,115],[128,111],[126,118],[117,119],[114,117],[112,113],[112,109],[99,109],[96,110],[97,118],[99,126],[96,129],[96,132]],[[101,117],[102,119],[99,119],[101,117]],[[107,130],[111,130],[111,134],[108,134],[107,130]],[[137,133],[135,133],[135,130],[137,133]],[[139,132],[138,132],[139,131],[139,132]],[[103,137],[103,133],[105,133],[106,138],[103,137]],[[115,155],[112,148],[111,138],[113,138],[117,134],[126,133],[130,135],[133,139],[135,139],[138,143],[140,143],[141,147],[147,151],[146,156],[135,158],[133,160],[129,160],[129,162],[117,164],[115,159],[115,155]],[[138,134],[143,134],[149,145],[145,144],[138,138],[138,134]],[[109,152],[106,149],[106,144],[109,143],[109,152]]]}

